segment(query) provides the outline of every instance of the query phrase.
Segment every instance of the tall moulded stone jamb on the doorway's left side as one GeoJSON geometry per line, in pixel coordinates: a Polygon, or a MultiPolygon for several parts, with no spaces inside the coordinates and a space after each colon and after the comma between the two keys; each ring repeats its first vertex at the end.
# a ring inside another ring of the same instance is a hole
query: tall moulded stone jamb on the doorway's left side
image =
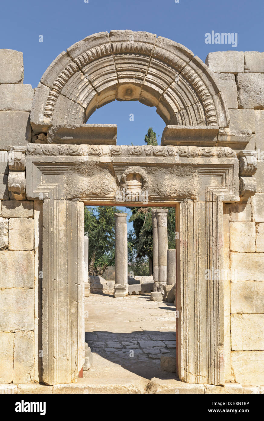
{"type": "Polygon", "coordinates": [[[75,383],[84,364],[84,204],[43,202],[43,382],[75,383]]]}

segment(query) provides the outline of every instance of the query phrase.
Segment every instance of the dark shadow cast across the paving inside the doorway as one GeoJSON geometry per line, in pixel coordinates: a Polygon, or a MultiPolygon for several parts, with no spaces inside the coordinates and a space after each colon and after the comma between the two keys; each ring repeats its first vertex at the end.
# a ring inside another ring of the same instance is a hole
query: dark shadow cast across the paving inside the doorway
{"type": "MultiPolygon", "coordinates": [[[[176,373],[161,370],[162,355],[176,356],[176,332],[157,330],[113,333],[94,331],[85,333],[91,352],[118,364],[138,376],[151,379],[176,379],[176,373]]],[[[115,365],[113,365],[114,369],[115,365]]]]}

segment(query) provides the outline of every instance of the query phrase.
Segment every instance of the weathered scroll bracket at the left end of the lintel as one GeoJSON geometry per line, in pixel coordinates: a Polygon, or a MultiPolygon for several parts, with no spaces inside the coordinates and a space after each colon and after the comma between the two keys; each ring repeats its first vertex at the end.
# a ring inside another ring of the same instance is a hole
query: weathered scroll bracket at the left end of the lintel
{"type": "Polygon", "coordinates": [[[8,191],[13,200],[26,199],[26,148],[14,146],[8,153],[8,191]]]}

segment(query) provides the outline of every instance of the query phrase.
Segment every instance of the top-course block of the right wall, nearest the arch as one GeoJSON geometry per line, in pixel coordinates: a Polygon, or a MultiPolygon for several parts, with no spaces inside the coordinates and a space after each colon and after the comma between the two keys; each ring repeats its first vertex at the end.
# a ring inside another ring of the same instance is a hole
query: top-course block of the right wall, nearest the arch
{"type": "Polygon", "coordinates": [[[205,64],[212,72],[240,73],[244,71],[243,51],[215,51],[209,53],[205,64]]]}

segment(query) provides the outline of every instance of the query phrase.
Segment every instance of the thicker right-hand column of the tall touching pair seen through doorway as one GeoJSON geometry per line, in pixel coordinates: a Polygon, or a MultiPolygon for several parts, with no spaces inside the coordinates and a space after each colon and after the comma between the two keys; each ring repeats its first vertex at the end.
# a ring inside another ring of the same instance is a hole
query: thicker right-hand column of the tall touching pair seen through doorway
{"type": "Polygon", "coordinates": [[[158,232],[158,258],[159,258],[159,288],[167,283],[167,209],[156,209],[158,232]]]}

